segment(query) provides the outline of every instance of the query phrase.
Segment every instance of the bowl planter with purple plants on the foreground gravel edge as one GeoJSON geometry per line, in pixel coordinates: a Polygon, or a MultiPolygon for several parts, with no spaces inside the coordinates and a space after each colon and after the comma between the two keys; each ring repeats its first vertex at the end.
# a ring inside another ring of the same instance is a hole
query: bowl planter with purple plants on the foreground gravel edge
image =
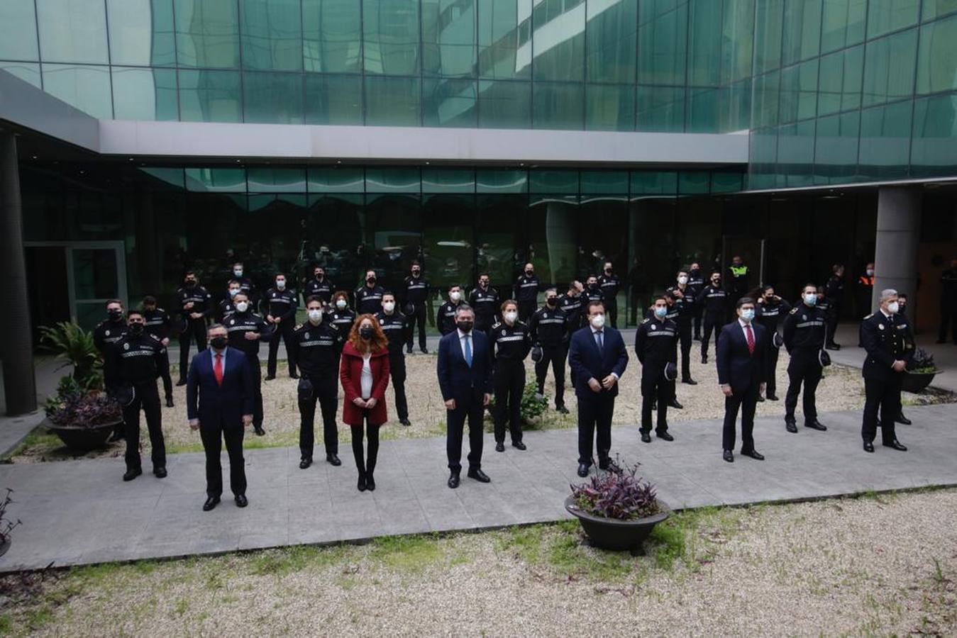
{"type": "Polygon", "coordinates": [[[641,551],[641,545],[671,509],[657,498],[655,487],[637,476],[638,464],[597,473],[590,482],[571,486],[565,509],[578,517],[592,545],[641,551]]]}

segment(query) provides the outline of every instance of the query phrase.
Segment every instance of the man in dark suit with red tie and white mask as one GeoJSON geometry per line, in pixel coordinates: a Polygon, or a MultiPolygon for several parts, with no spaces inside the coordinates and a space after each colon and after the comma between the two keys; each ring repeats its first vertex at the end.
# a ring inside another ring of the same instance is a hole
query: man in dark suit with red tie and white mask
{"type": "Polygon", "coordinates": [[[757,461],[765,457],[754,449],[754,410],[765,391],[765,349],[768,332],[754,323],[754,299],[735,303],[738,318],[723,326],[718,338],[718,383],[724,393],[724,460],[734,462],[735,424],[741,408],[741,453],[757,461]]]}

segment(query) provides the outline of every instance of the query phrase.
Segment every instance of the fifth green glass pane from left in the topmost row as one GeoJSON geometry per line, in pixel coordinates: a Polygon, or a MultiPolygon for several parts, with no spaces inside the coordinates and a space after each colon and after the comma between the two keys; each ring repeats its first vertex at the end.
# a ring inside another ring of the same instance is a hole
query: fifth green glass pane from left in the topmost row
{"type": "Polygon", "coordinates": [[[239,19],[243,67],[301,71],[300,0],[240,2],[239,19]]]}

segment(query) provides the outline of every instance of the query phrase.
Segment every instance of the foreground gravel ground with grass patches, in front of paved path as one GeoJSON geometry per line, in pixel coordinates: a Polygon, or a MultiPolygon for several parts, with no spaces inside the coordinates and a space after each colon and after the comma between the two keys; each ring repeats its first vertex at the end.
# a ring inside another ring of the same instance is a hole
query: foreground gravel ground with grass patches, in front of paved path
{"type": "Polygon", "coordinates": [[[646,557],[568,521],[7,577],[0,633],[955,635],[955,548],[954,490],[686,512],[646,557]]]}

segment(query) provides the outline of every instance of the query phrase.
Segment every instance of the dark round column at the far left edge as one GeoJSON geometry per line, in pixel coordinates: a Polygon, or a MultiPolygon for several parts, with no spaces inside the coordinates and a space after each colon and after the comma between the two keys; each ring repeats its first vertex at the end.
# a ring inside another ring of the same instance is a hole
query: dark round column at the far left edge
{"type": "Polygon", "coordinates": [[[33,336],[27,265],[23,255],[23,207],[16,138],[0,129],[0,359],[3,361],[7,414],[36,409],[33,376],[33,336]]]}

